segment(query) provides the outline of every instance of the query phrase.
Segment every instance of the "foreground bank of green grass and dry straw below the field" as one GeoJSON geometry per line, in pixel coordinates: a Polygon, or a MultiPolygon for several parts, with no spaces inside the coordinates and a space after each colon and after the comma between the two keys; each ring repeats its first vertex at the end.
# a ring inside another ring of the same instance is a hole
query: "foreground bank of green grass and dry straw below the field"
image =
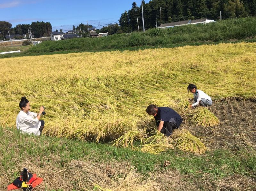
{"type": "Polygon", "coordinates": [[[0,127],[0,153],[1,190],[23,167],[44,178],[39,190],[256,188],[256,153],[251,147],[218,149],[204,155],[179,150],[152,155],[108,144],[22,135],[16,129],[0,127]],[[165,160],[170,161],[167,167],[165,160]]]}

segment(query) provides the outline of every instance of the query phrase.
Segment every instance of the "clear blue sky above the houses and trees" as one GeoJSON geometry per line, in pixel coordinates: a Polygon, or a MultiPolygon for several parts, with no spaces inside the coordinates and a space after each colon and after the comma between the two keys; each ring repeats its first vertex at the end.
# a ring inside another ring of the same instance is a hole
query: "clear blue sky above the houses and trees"
{"type": "Polygon", "coordinates": [[[10,22],[12,27],[37,20],[50,22],[52,30],[62,28],[64,32],[88,20],[88,24],[101,28],[100,25],[118,22],[134,1],[140,6],[138,0],[0,0],[0,21],[10,22]]]}

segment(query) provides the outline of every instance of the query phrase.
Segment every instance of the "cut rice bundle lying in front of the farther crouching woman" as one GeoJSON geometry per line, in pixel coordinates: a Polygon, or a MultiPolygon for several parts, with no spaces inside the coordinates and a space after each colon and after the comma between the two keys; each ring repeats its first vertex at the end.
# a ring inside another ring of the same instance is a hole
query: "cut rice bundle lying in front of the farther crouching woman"
{"type": "Polygon", "coordinates": [[[192,115],[191,121],[195,121],[197,125],[212,127],[220,123],[219,119],[205,107],[198,107],[190,114],[192,115]]]}

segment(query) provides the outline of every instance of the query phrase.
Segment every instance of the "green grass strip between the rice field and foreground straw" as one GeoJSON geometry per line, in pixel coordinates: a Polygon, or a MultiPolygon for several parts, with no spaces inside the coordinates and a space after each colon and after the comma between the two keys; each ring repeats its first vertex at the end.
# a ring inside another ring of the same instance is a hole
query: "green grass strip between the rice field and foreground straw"
{"type": "Polygon", "coordinates": [[[16,160],[48,156],[47,162],[51,163],[51,156],[60,156],[61,161],[56,164],[60,168],[72,159],[91,160],[93,163],[118,161],[129,162],[140,173],[147,175],[149,172],[163,169],[163,162],[169,160],[171,164],[167,169],[175,169],[185,175],[201,177],[204,173],[209,173],[213,177],[223,178],[234,174],[244,174],[256,178],[256,153],[250,148],[235,153],[220,149],[207,151],[204,155],[195,155],[179,150],[168,150],[159,155],[152,155],[129,148],[113,147],[107,143],[23,135],[16,129],[0,128],[0,132],[2,172],[12,168],[16,160]]]}

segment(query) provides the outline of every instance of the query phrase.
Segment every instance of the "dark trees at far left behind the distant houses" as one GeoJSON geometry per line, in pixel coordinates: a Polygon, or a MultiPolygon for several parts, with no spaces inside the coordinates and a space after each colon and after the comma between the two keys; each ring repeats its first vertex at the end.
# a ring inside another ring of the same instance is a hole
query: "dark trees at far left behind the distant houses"
{"type": "Polygon", "coordinates": [[[0,40],[4,40],[4,36],[8,35],[8,31],[10,34],[17,34],[17,35],[28,35],[28,28],[31,28],[31,33],[34,38],[39,37],[47,37],[50,35],[52,31],[52,25],[50,22],[32,22],[31,24],[19,24],[16,27],[12,28],[12,24],[7,21],[0,21],[0,40]]]}

